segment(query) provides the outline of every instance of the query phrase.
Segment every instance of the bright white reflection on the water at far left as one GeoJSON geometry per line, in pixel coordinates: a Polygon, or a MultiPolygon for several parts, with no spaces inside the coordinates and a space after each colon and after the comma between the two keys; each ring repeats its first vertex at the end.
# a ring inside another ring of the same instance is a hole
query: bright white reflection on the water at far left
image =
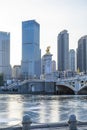
{"type": "Polygon", "coordinates": [[[12,95],[8,96],[8,125],[15,125],[16,122],[20,121],[20,117],[23,115],[23,104],[19,103],[21,96],[13,97],[12,95]]]}

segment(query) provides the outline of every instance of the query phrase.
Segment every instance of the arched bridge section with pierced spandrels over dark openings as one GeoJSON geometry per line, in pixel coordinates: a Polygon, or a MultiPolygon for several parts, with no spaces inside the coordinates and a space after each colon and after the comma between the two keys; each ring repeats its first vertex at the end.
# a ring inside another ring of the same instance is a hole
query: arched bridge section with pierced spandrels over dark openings
{"type": "Polygon", "coordinates": [[[56,90],[61,93],[87,94],[87,75],[58,79],[56,90]]]}

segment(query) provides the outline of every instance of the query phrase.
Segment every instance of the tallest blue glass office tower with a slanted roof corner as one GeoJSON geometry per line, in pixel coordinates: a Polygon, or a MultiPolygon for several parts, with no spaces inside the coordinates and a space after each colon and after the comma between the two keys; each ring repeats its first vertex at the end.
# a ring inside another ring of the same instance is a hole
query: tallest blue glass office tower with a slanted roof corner
{"type": "Polygon", "coordinates": [[[40,25],[35,20],[22,22],[22,74],[25,78],[40,77],[40,25]]]}

